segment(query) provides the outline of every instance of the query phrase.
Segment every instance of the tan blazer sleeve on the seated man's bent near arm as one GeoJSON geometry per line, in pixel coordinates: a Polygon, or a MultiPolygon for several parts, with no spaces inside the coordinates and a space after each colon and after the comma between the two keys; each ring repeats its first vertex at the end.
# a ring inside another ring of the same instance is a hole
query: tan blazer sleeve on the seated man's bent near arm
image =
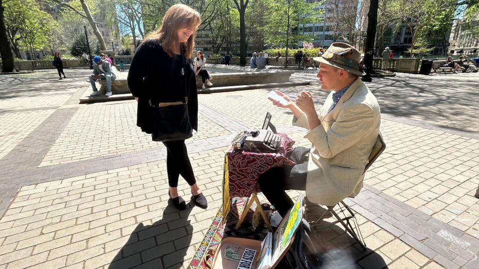
{"type": "Polygon", "coordinates": [[[332,158],[361,140],[371,126],[374,126],[372,108],[359,103],[342,109],[327,132],[319,125],[304,137],[311,141],[321,157],[332,158]]]}

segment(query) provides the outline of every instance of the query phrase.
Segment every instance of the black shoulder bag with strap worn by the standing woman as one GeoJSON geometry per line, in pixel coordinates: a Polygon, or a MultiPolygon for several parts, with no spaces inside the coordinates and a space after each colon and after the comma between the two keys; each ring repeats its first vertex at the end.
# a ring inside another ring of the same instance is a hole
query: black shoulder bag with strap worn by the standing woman
{"type": "Polygon", "coordinates": [[[185,101],[173,103],[152,103],[149,100],[153,119],[153,141],[183,140],[193,136],[193,128],[188,116],[188,93],[186,88],[186,66],[183,60],[185,78],[185,101]]]}

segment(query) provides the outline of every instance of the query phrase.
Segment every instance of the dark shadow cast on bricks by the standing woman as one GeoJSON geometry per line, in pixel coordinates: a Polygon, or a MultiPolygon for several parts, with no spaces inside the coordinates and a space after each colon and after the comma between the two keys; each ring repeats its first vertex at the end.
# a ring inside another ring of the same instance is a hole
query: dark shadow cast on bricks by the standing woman
{"type": "Polygon", "coordinates": [[[188,216],[194,206],[194,202],[190,201],[187,209],[178,211],[169,200],[159,221],[153,225],[144,226],[139,223],[136,226],[108,269],[139,265],[142,268],[180,269],[183,262],[181,259],[185,257],[192,238],[193,226],[188,216]]]}

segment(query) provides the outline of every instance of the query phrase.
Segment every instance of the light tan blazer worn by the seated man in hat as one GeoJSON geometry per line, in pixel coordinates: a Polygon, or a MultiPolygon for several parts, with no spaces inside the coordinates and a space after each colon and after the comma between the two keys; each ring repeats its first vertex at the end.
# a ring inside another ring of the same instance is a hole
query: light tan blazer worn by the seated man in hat
{"type": "Polygon", "coordinates": [[[333,104],[333,93],[319,112],[318,127],[309,130],[304,113],[293,119],[293,125],[309,130],[304,136],[312,143],[306,197],[321,205],[335,205],[359,193],[363,187],[363,170],[381,123],[378,101],[360,78],[326,115],[333,104]]]}

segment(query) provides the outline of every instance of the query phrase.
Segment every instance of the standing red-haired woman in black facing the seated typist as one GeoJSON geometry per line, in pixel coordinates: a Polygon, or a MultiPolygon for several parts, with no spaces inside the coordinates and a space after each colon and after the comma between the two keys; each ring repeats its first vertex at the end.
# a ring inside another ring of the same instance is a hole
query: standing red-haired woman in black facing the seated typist
{"type": "MultiPolygon", "coordinates": [[[[189,6],[171,6],[163,17],[160,29],[151,32],[133,56],[128,87],[138,101],[137,126],[147,134],[155,130],[152,107],[158,103],[184,100],[185,92],[188,120],[198,131],[198,93],[190,57],[200,22],[198,11],[189,6]]],[[[207,208],[207,200],[196,183],[185,140],[164,141],[163,144],[167,149],[170,200],[179,210],[186,209],[185,200],[179,196],[177,188],[181,174],[190,185],[196,205],[207,208]]]]}

